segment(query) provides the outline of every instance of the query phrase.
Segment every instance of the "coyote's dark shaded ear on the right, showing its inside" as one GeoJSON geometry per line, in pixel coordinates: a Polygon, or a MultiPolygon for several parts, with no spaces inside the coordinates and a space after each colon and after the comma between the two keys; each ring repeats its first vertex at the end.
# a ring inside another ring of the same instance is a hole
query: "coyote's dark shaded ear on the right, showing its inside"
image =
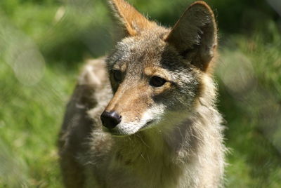
{"type": "Polygon", "coordinates": [[[206,71],[217,44],[214,13],[204,1],[196,1],[176,22],[165,41],[184,58],[206,71]]]}

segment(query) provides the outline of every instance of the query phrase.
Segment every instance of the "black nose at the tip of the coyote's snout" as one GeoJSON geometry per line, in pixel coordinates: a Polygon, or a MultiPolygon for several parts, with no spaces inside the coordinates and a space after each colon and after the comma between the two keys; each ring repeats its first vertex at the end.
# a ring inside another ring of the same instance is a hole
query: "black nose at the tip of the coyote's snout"
{"type": "Polygon", "coordinates": [[[112,129],[115,128],[121,122],[122,116],[120,116],[114,111],[113,112],[104,111],[103,114],[101,114],[100,119],[101,122],[103,123],[103,126],[112,129]]]}

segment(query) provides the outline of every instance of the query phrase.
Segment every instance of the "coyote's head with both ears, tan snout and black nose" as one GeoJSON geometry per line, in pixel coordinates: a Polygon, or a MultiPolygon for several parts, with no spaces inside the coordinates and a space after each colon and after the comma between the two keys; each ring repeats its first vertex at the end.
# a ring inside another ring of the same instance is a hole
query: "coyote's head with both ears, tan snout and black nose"
{"type": "Polygon", "coordinates": [[[145,18],[124,0],[110,5],[124,38],[107,58],[114,96],[101,115],[114,135],[180,123],[195,108],[216,51],[211,8],[197,1],[172,29],[145,18]]]}

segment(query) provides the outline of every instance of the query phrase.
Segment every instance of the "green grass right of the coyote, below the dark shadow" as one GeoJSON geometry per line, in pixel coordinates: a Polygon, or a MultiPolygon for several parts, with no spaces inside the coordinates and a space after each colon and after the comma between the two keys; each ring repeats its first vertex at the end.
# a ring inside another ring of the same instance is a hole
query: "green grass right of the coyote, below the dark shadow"
{"type": "Polygon", "coordinates": [[[228,187],[281,185],[281,40],[266,31],[236,35],[221,47],[218,65],[221,102],[231,148],[228,187]]]}

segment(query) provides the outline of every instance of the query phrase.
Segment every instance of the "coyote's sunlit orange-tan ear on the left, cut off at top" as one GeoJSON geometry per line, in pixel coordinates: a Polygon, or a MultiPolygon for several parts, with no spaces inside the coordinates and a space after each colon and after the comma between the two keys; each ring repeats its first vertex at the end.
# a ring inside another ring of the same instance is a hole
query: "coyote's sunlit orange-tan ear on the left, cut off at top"
{"type": "Polygon", "coordinates": [[[109,0],[109,4],[115,12],[115,17],[122,23],[125,35],[134,36],[156,25],[124,0],[109,0]]]}

